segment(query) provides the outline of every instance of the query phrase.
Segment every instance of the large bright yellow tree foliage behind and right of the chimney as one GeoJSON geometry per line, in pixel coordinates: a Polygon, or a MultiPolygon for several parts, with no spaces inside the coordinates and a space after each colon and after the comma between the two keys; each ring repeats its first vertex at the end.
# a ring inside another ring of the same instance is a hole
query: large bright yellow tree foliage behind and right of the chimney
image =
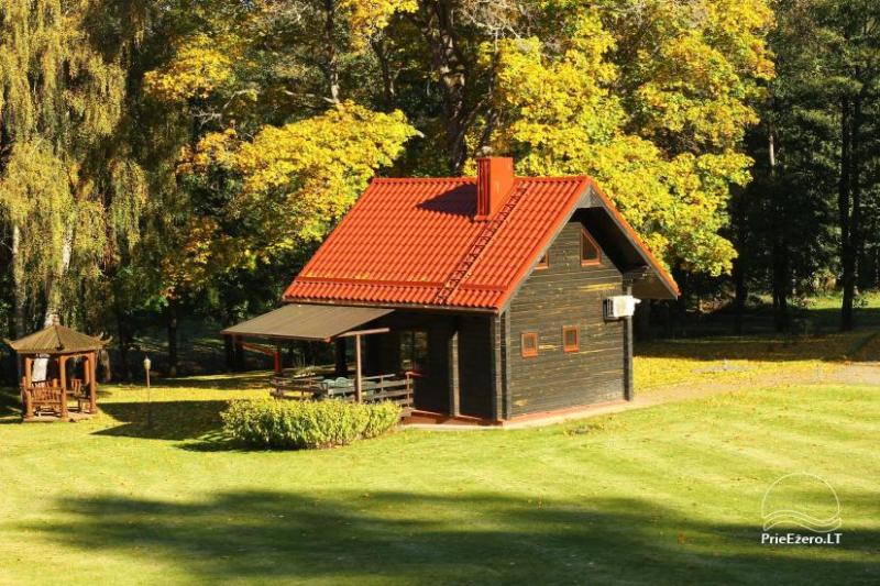
{"type": "Polygon", "coordinates": [[[626,71],[615,51],[640,51],[626,27],[606,23],[598,9],[565,7],[572,32],[562,44],[532,37],[486,46],[504,121],[495,152],[516,155],[520,174],[594,176],[667,263],[729,270],[736,252],[719,231],[730,186],[748,183],[751,163],[737,148],[757,121],[749,103],[760,93],[757,80],[772,75],[766,3],[641,2],[634,10],[650,15],[657,54],[639,53],[626,71]]]}

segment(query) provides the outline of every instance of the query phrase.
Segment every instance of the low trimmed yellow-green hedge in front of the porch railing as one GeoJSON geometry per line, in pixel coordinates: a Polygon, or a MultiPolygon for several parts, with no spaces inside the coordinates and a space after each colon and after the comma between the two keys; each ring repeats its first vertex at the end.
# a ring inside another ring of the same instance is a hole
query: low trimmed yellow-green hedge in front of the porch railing
{"type": "Polygon", "coordinates": [[[400,420],[400,408],[388,401],[235,399],[220,417],[226,432],[237,441],[255,447],[301,450],[382,435],[400,420]]]}

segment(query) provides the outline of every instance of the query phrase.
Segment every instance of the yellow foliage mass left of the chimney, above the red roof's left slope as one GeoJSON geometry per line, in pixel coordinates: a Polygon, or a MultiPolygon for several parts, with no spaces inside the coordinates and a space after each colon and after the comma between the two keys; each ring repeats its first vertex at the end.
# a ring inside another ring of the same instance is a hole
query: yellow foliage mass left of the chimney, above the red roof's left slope
{"type": "Polygon", "coordinates": [[[251,244],[265,258],[322,237],[415,134],[399,111],[343,102],[314,118],[264,126],[252,141],[231,130],[209,134],[179,172],[205,175],[218,167],[240,181],[224,213],[253,229],[251,244]]]}

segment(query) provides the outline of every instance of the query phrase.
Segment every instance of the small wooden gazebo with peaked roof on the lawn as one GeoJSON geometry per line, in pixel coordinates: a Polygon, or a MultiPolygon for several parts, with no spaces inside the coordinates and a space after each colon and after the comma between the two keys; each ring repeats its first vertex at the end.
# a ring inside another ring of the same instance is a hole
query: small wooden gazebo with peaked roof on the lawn
{"type": "Polygon", "coordinates": [[[68,419],[68,400],[76,400],[80,417],[98,410],[96,365],[106,342],[55,323],[20,340],[7,340],[23,361],[21,399],[24,420],[41,419],[45,411],[68,419]],[[68,362],[81,361],[81,377],[68,362]]]}

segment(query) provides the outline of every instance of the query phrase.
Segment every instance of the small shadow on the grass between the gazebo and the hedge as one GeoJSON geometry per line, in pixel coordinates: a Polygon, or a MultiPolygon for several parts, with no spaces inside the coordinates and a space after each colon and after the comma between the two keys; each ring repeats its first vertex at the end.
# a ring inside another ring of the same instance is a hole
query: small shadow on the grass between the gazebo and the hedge
{"type": "Polygon", "coordinates": [[[120,422],[96,435],[194,441],[205,450],[227,446],[220,411],[227,401],[107,402],[101,410],[120,422]]]}

